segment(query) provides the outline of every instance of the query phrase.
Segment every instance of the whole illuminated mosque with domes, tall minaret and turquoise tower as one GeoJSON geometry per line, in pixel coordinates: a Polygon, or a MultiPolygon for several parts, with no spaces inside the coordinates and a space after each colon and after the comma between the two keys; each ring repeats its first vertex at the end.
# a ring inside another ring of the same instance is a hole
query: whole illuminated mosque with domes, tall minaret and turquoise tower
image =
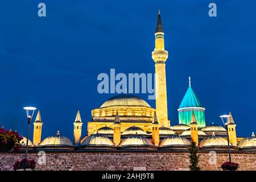
{"type": "MultiPolygon", "coordinates": [[[[88,122],[88,135],[82,137],[82,119],[77,112],[73,122],[73,141],[61,135],[41,138],[43,121],[38,111],[34,121],[33,141],[28,141],[30,150],[185,150],[195,142],[200,150],[215,148],[223,150],[256,151],[256,138],[237,137],[236,123],[229,113],[226,127],[206,125],[205,107],[199,101],[191,86],[177,112],[179,124],[172,125],[167,113],[166,60],[168,52],[164,49],[164,31],[160,10],[155,30],[155,49],[152,59],[155,62],[156,109],[146,101],[130,94],[119,94],[92,110],[92,120],[88,122]],[[227,131],[228,130],[228,131],[227,131]]],[[[26,144],[26,138],[22,144],[26,144]]]]}

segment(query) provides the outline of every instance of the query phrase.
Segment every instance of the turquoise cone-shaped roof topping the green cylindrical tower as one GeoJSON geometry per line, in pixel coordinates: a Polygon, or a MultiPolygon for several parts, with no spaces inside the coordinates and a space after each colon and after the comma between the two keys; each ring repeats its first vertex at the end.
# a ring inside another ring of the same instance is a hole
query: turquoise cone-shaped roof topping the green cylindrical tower
{"type": "Polygon", "coordinates": [[[183,107],[203,107],[191,86],[188,87],[179,109],[183,107]]]}

